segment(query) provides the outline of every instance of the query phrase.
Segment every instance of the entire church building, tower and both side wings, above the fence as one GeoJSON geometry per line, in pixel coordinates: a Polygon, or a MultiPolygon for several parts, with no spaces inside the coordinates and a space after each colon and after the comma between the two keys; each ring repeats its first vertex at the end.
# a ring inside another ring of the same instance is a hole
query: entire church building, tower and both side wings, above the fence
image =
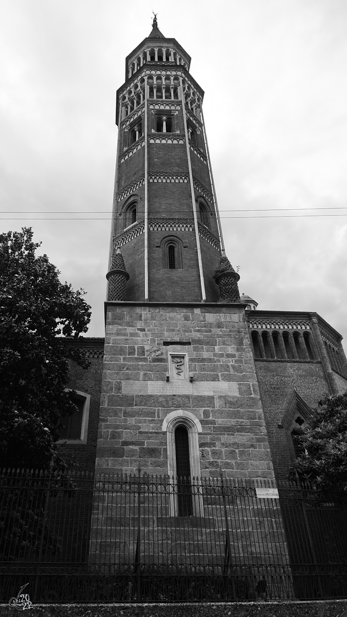
{"type": "Polygon", "coordinates": [[[72,367],[61,450],[96,474],[286,479],[291,434],[347,389],[346,357],[317,313],[240,298],[190,60],[154,19],[125,61],[105,339],[79,343],[91,366],[72,367]]]}

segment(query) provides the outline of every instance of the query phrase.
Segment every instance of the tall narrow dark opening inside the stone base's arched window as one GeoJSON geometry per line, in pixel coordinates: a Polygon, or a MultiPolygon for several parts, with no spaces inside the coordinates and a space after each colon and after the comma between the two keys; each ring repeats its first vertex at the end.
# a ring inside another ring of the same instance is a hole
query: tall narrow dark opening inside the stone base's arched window
{"type": "Polygon", "coordinates": [[[189,436],[185,426],[175,429],[178,516],[191,516],[193,503],[190,484],[189,436]]]}

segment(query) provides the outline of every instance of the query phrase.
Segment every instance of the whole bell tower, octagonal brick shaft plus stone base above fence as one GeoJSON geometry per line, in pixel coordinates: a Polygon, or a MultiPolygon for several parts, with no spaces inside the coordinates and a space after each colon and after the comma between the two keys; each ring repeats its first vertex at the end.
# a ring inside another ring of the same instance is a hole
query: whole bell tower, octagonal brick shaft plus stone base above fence
{"type": "Polygon", "coordinates": [[[117,91],[96,472],[274,478],[190,60],[154,18],[117,91]]]}

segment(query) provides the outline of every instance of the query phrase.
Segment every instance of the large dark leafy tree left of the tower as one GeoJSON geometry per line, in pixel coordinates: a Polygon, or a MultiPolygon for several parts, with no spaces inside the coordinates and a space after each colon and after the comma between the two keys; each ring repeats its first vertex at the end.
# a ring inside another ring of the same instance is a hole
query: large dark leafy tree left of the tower
{"type": "Polygon", "coordinates": [[[85,292],[59,281],[32,238],[31,228],[0,234],[0,468],[48,468],[60,417],[76,410],[69,361],[88,366],[69,346],[88,329],[85,292]]]}

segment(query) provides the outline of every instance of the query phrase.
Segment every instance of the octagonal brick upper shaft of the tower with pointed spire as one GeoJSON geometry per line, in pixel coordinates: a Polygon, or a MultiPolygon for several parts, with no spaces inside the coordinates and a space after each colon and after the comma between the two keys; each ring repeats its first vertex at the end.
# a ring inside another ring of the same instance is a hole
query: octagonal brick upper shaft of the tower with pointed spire
{"type": "Polygon", "coordinates": [[[108,300],[220,299],[213,274],[224,249],[222,230],[204,91],[190,74],[190,60],[176,39],[162,35],[156,17],[149,36],[125,60],[125,83],[117,91],[108,300]],[[120,276],[119,252],[129,275],[125,297],[112,283],[120,276]]]}

